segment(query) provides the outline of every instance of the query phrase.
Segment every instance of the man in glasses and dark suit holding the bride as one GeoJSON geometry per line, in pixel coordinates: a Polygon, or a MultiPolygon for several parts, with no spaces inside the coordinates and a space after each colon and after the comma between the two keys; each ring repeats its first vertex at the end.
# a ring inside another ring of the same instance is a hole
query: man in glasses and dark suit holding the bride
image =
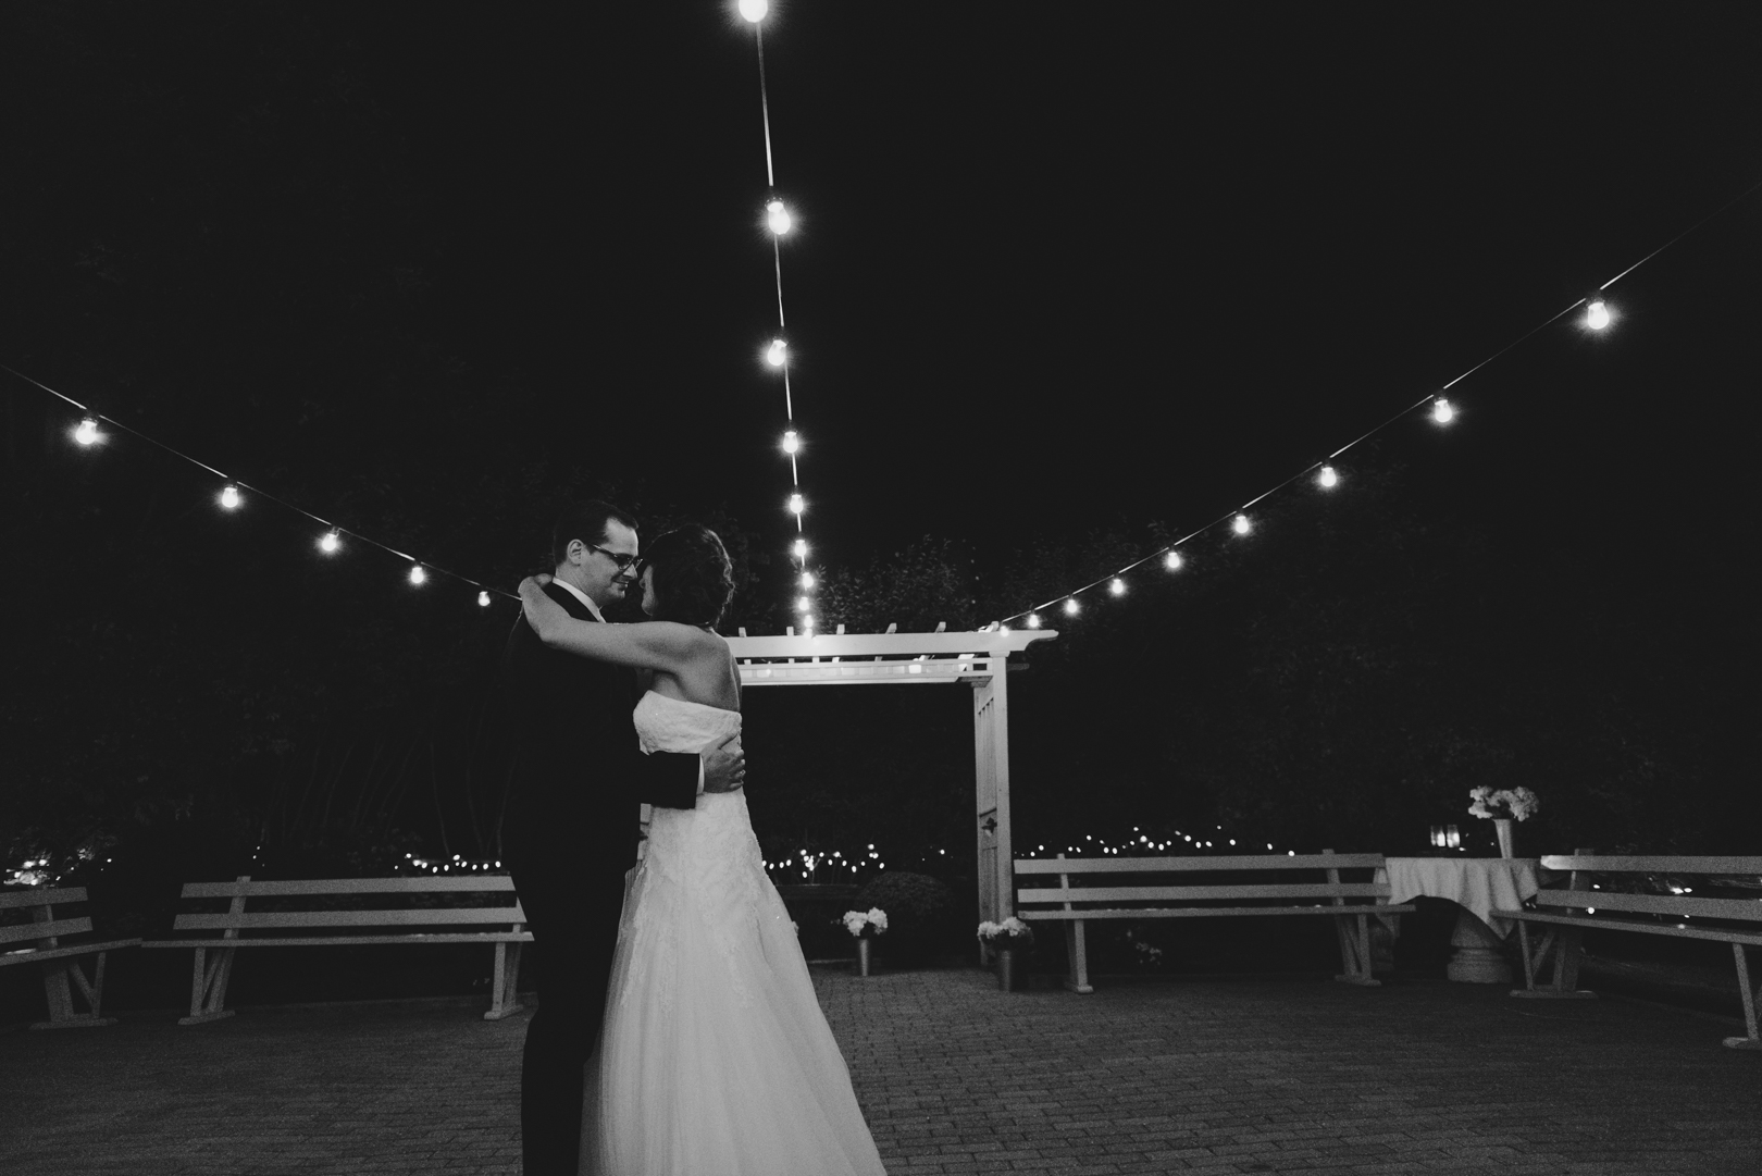
{"type": "MultiPolygon", "coordinates": [[[[544,592],[578,621],[624,599],[636,577],[636,520],[608,502],[564,510],[544,592]]],[[[745,776],[738,737],[698,755],[641,755],[627,666],[546,649],[525,615],[502,659],[516,762],[504,846],[539,952],[539,1009],[520,1072],[525,1176],[576,1176],[581,1079],[599,1042],[624,873],[636,864],[638,806],[696,808],[745,776]]]]}

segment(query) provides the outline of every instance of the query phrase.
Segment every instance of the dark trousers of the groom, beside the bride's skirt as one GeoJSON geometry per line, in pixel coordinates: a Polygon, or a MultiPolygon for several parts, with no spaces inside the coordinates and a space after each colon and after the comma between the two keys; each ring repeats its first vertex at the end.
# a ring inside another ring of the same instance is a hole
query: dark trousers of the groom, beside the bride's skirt
{"type": "Polygon", "coordinates": [[[581,1081],[606,1014],[624,873],[587,871],[580,855],[564,853],[511,860],[509,873],[532,931],[539,996],[520,1067],[522,1171],[576,1176],[581,1081]]]}

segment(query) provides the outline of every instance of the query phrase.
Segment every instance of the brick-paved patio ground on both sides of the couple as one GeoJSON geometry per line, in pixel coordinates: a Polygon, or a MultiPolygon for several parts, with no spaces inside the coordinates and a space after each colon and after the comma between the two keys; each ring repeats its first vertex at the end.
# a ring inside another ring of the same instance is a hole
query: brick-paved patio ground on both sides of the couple
{"type": "MultiPolygon", "coordinates": [[[[893,1176],[1762,1172],[1762,1054],[1713,1019],[1413,982],[818,970],[893,1176]]],[[[518,1172],[525,1017],[465,1001],[247,1009],[0,1035],[30,1176],[518,1172]]],[[[714,1176],[714,1174],[707,1174],[714,1176]]]]}

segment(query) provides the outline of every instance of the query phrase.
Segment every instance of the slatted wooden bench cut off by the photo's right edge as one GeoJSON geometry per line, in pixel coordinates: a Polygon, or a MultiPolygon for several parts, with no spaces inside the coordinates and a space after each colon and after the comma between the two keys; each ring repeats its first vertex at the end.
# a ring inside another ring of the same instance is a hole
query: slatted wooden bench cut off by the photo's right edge
{"type": "MultiPolygon", "coordinates": [[[[1762,947],[1762,897],[1702,897],[1693,890],[1716,889],[1709,876],[1755,880],[1762,876],[1762,857],[1596,857],[1593,850],[1572,855],[1544,857],[1544,869],[1568,873],[1566,889],[1544,889],[1531,901],[1535,910],[1496,910],[1499,919],[1517,922],[1519,943],[1524,952],[1524,987],[1512,996],[1538,998],[1591,998],[1596,993],[1579,987],[1579,961],[1584,954],[1584,931],[1637,931],[1640,934],[1672,934],[1684,940],[1714,940],[1732,945],[1737,963],[1737,989],[1744,1001],[1744,1028],[1748,1037],[1727,1037],[1732,1049],[1762,1049],[1757,1035],[1757,1001],[1762,993],[1750,986],[1750,966],[1744,947],[1762,947]],[[1602,876],[1603,882],[1593,882],[1602,876]],[[1658,883],[1670,894],[1635,894],[1610,890],[1614,885],[1632,885],[1662,876],[1658,883]],[[1693,880],[1684,887],[1677,878],[1693,880]],[[1679,892],[1676,892],[1679,890],[1679,892]],[[1707,922],[1690,922],[1707,920],[1707,922]],[[1538,945],[1529,942],[1529,924],[1547,931],[1538,945]],[[1725,926],[1720,926],[1725,924],[1725,926]],[[1542,966],[1552,956],[1554,970],[1547,984],[1536,984],[1542,966]]],[[[1753,885],[1753,882],[1751,882],[1753,885]]]]}

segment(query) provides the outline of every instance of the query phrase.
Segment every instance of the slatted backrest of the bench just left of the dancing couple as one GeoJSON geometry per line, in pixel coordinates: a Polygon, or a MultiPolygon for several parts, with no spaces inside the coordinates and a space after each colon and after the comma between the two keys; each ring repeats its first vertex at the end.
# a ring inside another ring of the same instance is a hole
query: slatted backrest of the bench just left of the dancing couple
{"type": "Polygon", "coordinates": [[[478,878],[312,878],[291,882],[187,882],[185,899],[231,899],[224,912],[181,913],[176,931],[292,931],[300,927],[478,927],[520,929],[527,922],[515,880],[506,875],[478,878]],[[400,906],[321,906],[303,910],[310,899],[356,896],[358,899],[405,899],[400,906]],[[463,903],[411,904],[425,897],[458,897],[463,903]],[[495,904],[479,901],[488,897],[495,904]],[[268,908],[248,910],[254,899],[278,899],[268,908]],[[308,899],[308,901],[301,901],[308,899]]]}

